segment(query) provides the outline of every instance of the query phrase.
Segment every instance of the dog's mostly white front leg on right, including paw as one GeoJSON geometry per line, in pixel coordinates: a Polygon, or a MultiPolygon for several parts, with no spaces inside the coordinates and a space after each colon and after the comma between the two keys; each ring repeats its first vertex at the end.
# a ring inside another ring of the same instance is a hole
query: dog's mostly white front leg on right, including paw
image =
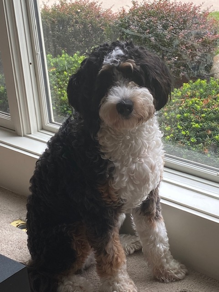
{"type": "Polygon", "coordinates": [[[183,279],[187,270],[170,253],[167,231],[161,215],[159,187],[150,192],[139,208],[133,209],[132,216],[142,241],[143,253],[154,276],[164,282],[183,279]]]}

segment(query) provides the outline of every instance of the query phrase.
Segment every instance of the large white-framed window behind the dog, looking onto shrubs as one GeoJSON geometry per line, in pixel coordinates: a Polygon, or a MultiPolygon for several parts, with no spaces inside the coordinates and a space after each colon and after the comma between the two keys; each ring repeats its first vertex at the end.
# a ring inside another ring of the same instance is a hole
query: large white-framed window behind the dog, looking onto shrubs
{"type": "Polygon", "coordinates": [[[8,35],[0,44],[1,126],[48,139],[71,113],[66,86],[84,54],[103,41],[131,37],[163,58],[175,77],[171,102],[158,113],[166,167],[219,181],[219,83],[209,79],[217,15],[169,0],[112,10],[110,3],[87,0],[0,2],[1,33],[8,35]],[[2,61],[10,64],[7,72],[2,61]]]}

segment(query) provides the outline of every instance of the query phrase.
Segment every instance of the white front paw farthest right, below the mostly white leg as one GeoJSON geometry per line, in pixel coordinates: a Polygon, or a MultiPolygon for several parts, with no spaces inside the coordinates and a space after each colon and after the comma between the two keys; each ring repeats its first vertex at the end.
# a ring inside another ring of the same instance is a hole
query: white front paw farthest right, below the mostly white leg
{"type": "Polygon", "coordinates": [[[154,269],[154,276],[161,282],[173,282],[185,278],[187,268],[180,262],[173,260],[163,268],[154,269]]]}

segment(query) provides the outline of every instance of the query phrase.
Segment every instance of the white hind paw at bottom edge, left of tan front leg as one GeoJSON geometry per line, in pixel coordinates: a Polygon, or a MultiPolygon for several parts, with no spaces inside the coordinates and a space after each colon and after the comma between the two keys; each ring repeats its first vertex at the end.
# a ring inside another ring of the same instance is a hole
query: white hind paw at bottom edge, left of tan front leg
{"type": "Polygon", "coordinates": [[[63,277],[58,283],[57,292],[92,292],[93,285],[84,277],[79,275],[71,275],[63,277]]]}

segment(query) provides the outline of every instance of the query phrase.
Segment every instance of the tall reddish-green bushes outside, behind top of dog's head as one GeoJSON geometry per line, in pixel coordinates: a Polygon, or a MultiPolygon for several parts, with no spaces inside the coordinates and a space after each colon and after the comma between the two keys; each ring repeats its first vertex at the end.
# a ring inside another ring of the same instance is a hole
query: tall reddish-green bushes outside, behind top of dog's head
{"type": "Polygon", "coordinates": [[[208,76],[218,47],[219,22],[201,5],[179,1],[132,1],[128,11],[102,9],[97,1],[60,0],[41,8],[46,53],[89,52],[105,41],[131,38],[159,55],[176,80],[208,76]]]}

